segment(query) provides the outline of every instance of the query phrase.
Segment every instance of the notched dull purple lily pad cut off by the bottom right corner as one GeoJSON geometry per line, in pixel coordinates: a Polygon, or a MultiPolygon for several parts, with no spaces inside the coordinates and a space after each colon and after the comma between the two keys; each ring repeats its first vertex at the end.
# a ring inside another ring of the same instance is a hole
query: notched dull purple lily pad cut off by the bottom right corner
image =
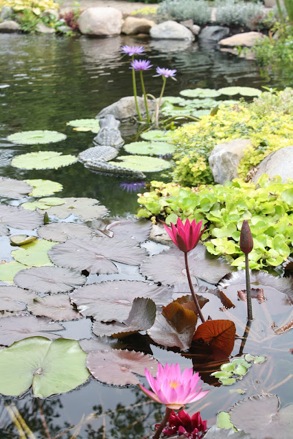
{"type": "Polygon", "coordinates": [[[277,395],[250,396],[231,407],[231,422],[253,438],[288,439],[292,436],[293,405],[281,410],[279,405],[277,395]]]}

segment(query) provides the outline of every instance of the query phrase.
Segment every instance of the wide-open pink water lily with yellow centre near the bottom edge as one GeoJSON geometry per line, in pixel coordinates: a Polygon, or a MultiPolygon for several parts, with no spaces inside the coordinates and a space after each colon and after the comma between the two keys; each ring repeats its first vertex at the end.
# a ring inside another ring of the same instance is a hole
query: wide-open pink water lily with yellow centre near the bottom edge
{"type": "Polygon", "coordinates": [[[191,368],[183,370],[181,374],[178,364],[169,366],[166,363],[163,368],[159,363],[156,378],[145,368],[145,377],[153,392],[139,384],[141,390],[156,403],[165,404],[172,410],[180,410],[185,404],[194,403],[209,392],[202,392],[202,381],[198,372],[194,374],[194,369],[191,368]]]}

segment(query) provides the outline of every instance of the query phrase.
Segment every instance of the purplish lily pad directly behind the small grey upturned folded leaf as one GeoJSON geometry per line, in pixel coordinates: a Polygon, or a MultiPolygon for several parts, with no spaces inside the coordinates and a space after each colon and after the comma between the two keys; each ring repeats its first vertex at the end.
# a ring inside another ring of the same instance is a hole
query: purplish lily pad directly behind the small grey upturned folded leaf
{"type": "Polygon", "coordinates": [[[95,320],[123,322],[129,316],[136,297],[151,298],[156,305],[172,301],[165,288],[140,281],[106,281],[78,288],[70,294],[80,313],[95,320]]]}

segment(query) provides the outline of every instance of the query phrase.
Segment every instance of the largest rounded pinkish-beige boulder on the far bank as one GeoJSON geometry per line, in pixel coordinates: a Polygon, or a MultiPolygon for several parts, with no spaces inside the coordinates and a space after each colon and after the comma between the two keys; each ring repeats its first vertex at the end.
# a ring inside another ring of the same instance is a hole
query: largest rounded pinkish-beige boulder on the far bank
{"type": "Polygon", "coordinates": [[[88,8],[80,14],[78,27],[84,35],[119,35],[122,13],[115,8],[88,8]]]}

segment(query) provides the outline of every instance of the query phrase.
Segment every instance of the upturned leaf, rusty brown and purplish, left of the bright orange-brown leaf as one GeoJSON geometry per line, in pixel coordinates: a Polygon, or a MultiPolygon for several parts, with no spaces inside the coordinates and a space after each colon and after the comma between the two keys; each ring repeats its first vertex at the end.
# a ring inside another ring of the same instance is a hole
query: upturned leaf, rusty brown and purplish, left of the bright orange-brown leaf
{"type": "Polygon", "coordinates": [[[172,302],[157,314],[154,326],[148,330],[148,335],[163,346],[178,346],[186,351],[191,346],[197,316],[193,311],[183,308],[177,302],[172,302]]]}

